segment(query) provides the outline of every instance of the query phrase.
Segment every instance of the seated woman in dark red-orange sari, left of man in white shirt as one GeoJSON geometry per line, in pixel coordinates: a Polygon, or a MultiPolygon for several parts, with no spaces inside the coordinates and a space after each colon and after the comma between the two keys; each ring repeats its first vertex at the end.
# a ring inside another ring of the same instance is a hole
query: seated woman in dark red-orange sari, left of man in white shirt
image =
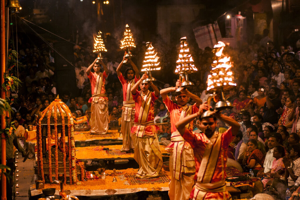
{"type": "Polygon", "coordinates": [[[252,169],[254,175],[262,169],[263,163],[265,162],[264,154],[257,148],[257,142],[254,139],[250,139],[247,143],[247,150],[245,152],[243,165],[247,169],[252,169]]]}

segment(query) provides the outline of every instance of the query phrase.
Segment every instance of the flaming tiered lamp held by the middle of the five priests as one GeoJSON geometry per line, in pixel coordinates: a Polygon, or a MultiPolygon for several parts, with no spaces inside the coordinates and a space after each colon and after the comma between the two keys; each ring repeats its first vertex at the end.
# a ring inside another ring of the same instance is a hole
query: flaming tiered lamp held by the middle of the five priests
{"type": "Polygon", "coordinates": [[[159,57],[157,52],[155,52],[151,42],[146,42],[146,48],[147,50],[145,52],[145,58],[141,71],[148,71],[149,73],[149,77],[145,79],[145,82],[156,81],[156,79],[152,77],[151,71],[161,69],[159,65],[160,62],[158,61],[159,57]]]}

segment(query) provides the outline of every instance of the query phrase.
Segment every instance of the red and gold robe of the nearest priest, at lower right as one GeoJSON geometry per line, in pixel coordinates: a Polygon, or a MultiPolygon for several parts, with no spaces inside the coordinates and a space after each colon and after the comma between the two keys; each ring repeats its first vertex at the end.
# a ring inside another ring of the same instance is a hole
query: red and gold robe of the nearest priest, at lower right
{"type": "Polygon", "coordinates": [[[222,134],[214,132],[210,139],[204,133],[194,133],[186,128],[183,138],[192,146],[196,162],[197,182],[191,198],[231,199],[225,183],[227,149],[233,139],[231,127],[222,134]]]}

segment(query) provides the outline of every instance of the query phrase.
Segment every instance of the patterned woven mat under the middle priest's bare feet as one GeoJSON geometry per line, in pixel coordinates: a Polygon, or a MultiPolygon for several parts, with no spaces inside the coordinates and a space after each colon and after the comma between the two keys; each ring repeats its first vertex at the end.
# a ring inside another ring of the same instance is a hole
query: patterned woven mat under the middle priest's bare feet
{"type": "Polygon", "coordinates": [[[137,178],[135,174],[125,174],[125,178],[130,185],[168,183],[171,181],[170,177],[164,171],[155,178],[137,178]]]}

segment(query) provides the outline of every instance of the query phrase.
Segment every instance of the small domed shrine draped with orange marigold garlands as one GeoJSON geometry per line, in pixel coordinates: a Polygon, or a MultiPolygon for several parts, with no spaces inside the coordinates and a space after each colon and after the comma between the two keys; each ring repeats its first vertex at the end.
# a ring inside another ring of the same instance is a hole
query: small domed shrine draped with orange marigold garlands
{"type": "Polygon", "coordinates": [[[64,175],[64,183],[66,183],[67,177],[70,178],[70,184],[76,183],[78,174],[83,180],[83,164],[75,158],[74,124],[81,124],[86,121],[85,116],[75,119],[68,106],[58,97],[50,103],[41,116],[38,116],[38,174],[43,182],[45,182],[45,174],[49,175],[50,182],[52,182],[52,175],[55,176],[55,180],[58,180],[58,174],[64,175]],[[58,138],[59,135],[60,138],[58,138]],[[55,138],[54,146],[51,143],[52,137],[55,138]],[[66,137],[68,138],[67,145],[65,143],[66,137]],[[46,145],[48,145],[48,152],[46,152],[46,145]],[[52,170],[52,167],[55,170],[52,170]]]}

